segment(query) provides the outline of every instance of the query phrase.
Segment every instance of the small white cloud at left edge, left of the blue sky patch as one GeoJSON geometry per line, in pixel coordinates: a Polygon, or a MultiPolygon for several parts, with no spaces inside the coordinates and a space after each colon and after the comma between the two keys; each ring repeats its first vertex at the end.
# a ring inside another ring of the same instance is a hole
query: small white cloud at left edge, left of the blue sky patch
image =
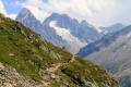
{"type": "Polygon", "coordinates": [[[4,9],[4,5],[3,5],[1,0],[0,0],[0,13],[4,14],[5,16],[11,17],[13,20],[15,20],[15,17],[16,17],[16,14],[8,14],[7,13],[7,11],[4,9]]]}

